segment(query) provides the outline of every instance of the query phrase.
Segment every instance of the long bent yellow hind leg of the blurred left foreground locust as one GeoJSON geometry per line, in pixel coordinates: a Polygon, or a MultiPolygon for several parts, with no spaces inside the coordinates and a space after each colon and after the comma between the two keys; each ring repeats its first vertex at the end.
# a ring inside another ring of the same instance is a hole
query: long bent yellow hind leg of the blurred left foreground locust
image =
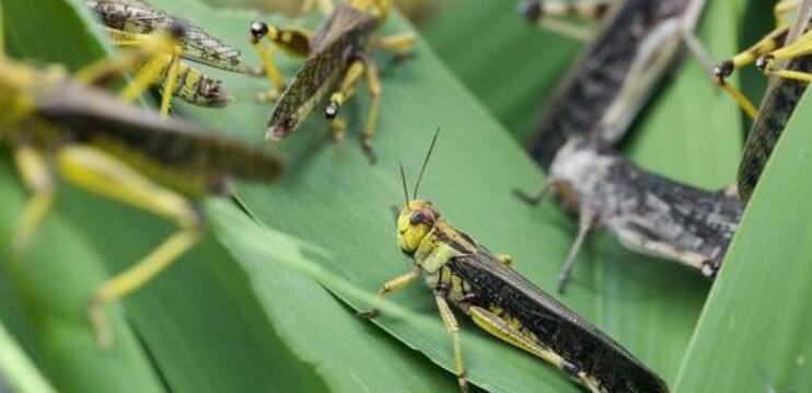
{"type": "Polygon", "coordinates": [[[100,345],[108,346],[113,337],[104,316],[105,305],[144,286],[194,246],[201,235],[201,218],[188,199],[155,184],[105,152],[88,147],[66,147],[57,153],[57,163],[68,182],[171,218],[179,227],[175,234],[143,259],[111,278],[95,291],[88,308],[88,316],[100,345]]]}

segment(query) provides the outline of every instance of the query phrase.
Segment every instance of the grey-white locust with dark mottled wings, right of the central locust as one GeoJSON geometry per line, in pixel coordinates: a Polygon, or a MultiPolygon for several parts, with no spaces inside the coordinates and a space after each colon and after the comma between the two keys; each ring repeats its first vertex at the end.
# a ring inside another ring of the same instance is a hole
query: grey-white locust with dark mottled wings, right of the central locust
{"type": "Polygon", "coordinates": [[[596,227],[631,251],[675,261],[714,278],[743,211],[738,198],[643,171],[594,136],[572,138],[561,147],[542,192],[526,200],[538,204],[550,192],[579,215],[559,292],[587,234],[596,227]]]}

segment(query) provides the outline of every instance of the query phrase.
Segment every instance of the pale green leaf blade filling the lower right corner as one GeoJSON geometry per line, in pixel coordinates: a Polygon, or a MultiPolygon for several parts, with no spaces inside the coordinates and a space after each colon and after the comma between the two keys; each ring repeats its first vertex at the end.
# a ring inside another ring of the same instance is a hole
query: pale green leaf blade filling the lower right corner
{"type": "Polygon", "coordinates": [[[762,174],[691,342],[676,392],[812,389],[812,226],[804,213],[812,197],[811,100],[807,94],[799,104],[762,174]]]}

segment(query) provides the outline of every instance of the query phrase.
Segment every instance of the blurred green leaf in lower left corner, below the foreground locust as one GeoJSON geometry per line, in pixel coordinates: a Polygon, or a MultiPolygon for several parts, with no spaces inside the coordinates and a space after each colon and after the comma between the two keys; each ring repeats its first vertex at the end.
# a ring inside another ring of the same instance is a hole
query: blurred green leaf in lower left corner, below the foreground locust
{"type": "MultiPolygon", "coordinates": [[[[21,258],[12,257],[9,240],[24,207],[25,192],[11,172],[5,154],[0,165],[3,204],[0,204],[0,255],[2,287],[13,298],[3,298],[3,309],[20,302],[24,321],[16,321],[34,360],[54,383],[68,392],[160,391],[160,383],[118,309],[109,312],[118,343],[100,356],[84,310],[103,277],[102,262],[88,240],[62,211],[62,200],[37,231],[21,258]],[[89,378],[92,375],[92,378],[89,378]],[[127,380],[126,385],[120,381],[127,380]]],[[[4,315],[8,316],[8,315],[4,315]]]]}

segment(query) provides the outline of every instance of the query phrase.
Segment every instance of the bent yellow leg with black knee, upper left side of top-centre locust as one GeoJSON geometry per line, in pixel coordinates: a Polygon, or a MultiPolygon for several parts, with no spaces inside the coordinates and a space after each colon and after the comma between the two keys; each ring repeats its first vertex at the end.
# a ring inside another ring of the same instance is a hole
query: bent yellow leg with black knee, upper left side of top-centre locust
{"type": "Polygon", "coordinates": [[[285,90],[285,79],[274,60],[274,53],[277,48],[285,53],[305,57],[310,53],[310,34],[295,28],[276,28],[263,22],[251,23],[251,46],[259,55],[263,62],[263,71],[270,80],[272,88],[266,92],[259,93],[259,101],[272,101],[278,99],[285,90]],[[267,38],[270,44],[263,44],[263,38],[267,38]]]}

